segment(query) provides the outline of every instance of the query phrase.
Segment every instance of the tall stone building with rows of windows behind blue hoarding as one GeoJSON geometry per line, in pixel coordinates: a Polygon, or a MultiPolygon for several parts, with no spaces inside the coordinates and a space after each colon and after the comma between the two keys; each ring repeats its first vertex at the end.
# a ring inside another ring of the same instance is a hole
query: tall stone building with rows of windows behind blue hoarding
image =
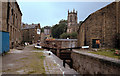
{"type": "Polygon", "coordinates": [[[22,12],[16,2],[0,2],[0,31],[9,32],[10,48],[21,43],[22,12]]]}

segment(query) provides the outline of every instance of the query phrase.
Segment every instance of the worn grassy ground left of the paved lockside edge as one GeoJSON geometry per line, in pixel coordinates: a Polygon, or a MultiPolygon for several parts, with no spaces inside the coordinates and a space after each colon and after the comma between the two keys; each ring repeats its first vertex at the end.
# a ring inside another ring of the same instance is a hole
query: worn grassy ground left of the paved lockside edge
{"type": "Polygon", "coordinates": [[[7,70],[2,70],[2,72],[12,72],[17,73],[19,70],[24,70],[25,74],[45,74],[45,68],[44,68],[44,59],[45,56],[43,52],[30,52],[28,56],[20,58],[19,60],[15,60],[17,64],[20,64],[21,66],[16,68],[8,68],[7,70]]]}

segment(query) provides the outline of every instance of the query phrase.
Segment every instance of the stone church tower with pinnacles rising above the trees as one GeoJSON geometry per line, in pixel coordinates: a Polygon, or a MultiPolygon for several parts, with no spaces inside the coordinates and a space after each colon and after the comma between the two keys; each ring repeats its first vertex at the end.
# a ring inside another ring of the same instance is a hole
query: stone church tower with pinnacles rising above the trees
{"type": "Polygon", "coordinates": [[[69,12],[68,10],[68,26],[67,33],[77,32],[77,11],[73,9],[73,11],[69,12]]]}

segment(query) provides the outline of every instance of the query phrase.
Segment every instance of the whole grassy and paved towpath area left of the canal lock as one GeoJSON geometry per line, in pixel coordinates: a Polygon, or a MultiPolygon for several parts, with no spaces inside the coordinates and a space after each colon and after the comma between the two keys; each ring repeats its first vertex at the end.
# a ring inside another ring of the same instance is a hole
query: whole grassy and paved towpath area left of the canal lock
{"type": "Polygon", "coordinates": [[[2,57],[2,66],[3,74],[78,74],[67,64],[64,68],[62,60],[52,52],[36,50],[32,45],[23,50],[13,49],[8,52],[2,57]],[[39,56],[42,53],[43,56],[39,56]],[[43,62],[41,58],[44,58],[43,62]]]}

